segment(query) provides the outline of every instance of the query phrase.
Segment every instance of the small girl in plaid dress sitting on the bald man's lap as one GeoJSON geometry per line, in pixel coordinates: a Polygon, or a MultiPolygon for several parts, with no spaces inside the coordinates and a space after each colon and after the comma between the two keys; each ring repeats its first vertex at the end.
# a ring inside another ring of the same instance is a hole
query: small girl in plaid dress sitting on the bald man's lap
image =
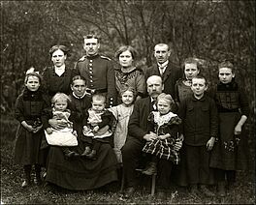
{"type": "Polygon", "coordinates": [[[171,95],[162,93],[157,98],[157,110],[150,112],[148,116],[149,132],[157,134],[157,138],[147,141],[143,151],[152,155],[151,161],[146,165],[143,173],[152,175],[157,170],[157,159],[179,162],[179,154],[175,150],[176,141],[181,140],[178,136],[180,118],[174,114],[172,105],[174,100],[171,95]]]}

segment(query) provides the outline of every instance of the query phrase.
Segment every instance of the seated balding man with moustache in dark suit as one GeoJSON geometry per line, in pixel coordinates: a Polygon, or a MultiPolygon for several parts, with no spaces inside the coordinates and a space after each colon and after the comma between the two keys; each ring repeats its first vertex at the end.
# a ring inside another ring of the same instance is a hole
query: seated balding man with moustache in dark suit
{"type": "MultiPolygon", "coordinates": [[[[135,191],[136,168],[142,150],[146,141],[157,138],[153,132],[147,132],[147,117],[153,110],[153,102],[158,95],[162,93],[164,86],[162,78],[158,75],[152,75],[146,80],[148,97],[137,101],[134,105],[133,113],[128,124],[128,136],[124,147],[122,148],[123,172],[126,182],[126,194],[129,196],[135,191]]],[[[181,142],[176,143],[176,150],[181,147],[181,142]]],[[[157,196],[160,199],[166,199],[166,190],[169,187],[172,170],[172,162],[167,160],[159,160],[157,167],[157,196]]]]}

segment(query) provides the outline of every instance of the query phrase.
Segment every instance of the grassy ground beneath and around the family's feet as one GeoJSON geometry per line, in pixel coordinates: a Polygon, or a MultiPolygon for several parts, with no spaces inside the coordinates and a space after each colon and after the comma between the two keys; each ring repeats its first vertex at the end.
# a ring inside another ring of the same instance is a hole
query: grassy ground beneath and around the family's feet
{"type": "MultiPolygon", "coordinates": [[[[72,191],[54,186],[20,187],[21,167],[13,161],[16,123],[11,118],[1,118],[1,204],[161,204],[150,191],[141,187],[132,198],[124,199],[118,182],[99,190],[72,191]]],[[[254,144],[254,140],[251,140],[254,144]]],[[[251,146],[254,161],[254,146],[251,146]]],[[[214,190],[214,188],[212,188],[214,190]]],[[[163,204],[255,204],[255,169],[238,172],[237,183],[224,198],[192,196],[186,188],[172,187],[168,201],[163,204]]]]}

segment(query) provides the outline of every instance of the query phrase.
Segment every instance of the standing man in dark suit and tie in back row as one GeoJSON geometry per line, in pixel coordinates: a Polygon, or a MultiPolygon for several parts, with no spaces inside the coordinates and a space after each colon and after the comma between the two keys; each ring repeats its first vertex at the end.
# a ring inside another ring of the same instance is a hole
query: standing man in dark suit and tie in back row
{"type": "Polygon", "coordinates": [[[150,75],[161,76],[164,84],[163,92],[170,94],[174,98],[176,80],[182,77],[182,70],[169,61],[170,55],[171,49],[168,44],[156,44],[154,46],[156,64],[146,70],[145,79],[150,75]]]}

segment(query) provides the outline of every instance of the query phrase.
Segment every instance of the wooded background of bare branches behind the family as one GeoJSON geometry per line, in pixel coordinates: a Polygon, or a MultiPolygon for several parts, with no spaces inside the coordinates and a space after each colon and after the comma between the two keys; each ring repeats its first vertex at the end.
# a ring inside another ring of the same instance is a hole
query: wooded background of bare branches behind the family
{"type": "Polygon", "coordinates": [[[217,64],[231,60],[254,107],[255,1],[1,1],[1,112],[12,110],[26,70],[51,64],[50,46],[67,45],[73,68],[91,32],[113,60],[119,45],[134,46],[144,69],[154,61],[154,44],[171,44],[173,62],[197,57],[211,83],[217,64]]]}

